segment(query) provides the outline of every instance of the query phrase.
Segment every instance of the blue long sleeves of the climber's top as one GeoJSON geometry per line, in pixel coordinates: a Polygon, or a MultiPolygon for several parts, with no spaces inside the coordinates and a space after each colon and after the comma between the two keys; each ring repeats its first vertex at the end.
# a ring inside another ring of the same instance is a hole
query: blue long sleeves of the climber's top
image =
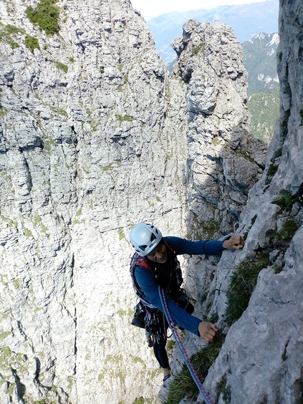
{"type": "MultiPolygon", "coordinates": [[[[223,241],[190,241],[179,237],[165,237],[164,240],[175,250],[176,255],[217,255],[224,250],[223,241]]],[[[136,267],[135,277],[149,303],[163,311],[159,296],[159,285],[156,283],[156,278],[152,272],[144,267],[136,267]]],[[[169,297],[168,293],[166,293],[166,301],[173,322],[199,335],[198,326],[202,320],[185,312],[169,297]]]]}

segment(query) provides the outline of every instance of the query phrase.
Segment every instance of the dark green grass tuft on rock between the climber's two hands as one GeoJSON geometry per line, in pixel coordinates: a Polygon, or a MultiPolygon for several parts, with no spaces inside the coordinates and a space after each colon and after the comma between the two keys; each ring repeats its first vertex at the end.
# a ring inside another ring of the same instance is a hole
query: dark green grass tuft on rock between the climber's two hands
{"type": "Polygon", "coordinates": [[[247,309],[249,299],[256,287],[261,269],[270,264],[268,252],[261,250],[256,255],[242,262],[230,276],[230,287],[228,288],[228,308],[226,310],[226,322],[232,325],[242,316],[247,309]]]}

